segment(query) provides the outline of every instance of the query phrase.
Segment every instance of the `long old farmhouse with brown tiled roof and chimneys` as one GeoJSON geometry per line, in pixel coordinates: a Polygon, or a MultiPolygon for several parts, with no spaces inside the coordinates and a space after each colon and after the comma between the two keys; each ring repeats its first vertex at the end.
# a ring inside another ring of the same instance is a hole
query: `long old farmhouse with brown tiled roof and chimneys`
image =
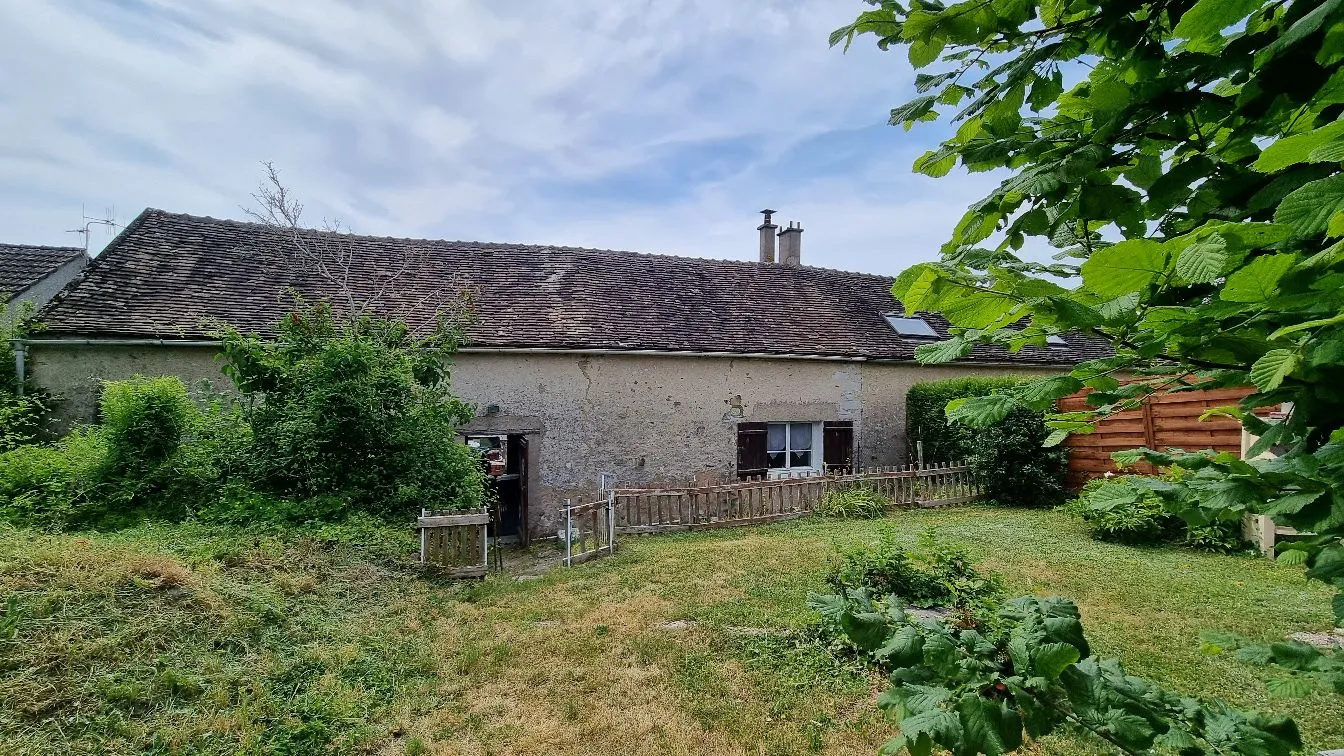
{"type": "MultiPolygon", "coordinates": [[[[757,261],[305,238],[340,245],[351,287],[384,289],[379,307],[413,319],[435,291],[473,291],[453,389],[476,406],[464,436],[505,460],[501,533],[524,541],[554,534],[563,502],[595,495],[603,474],[637,487],[903,464],[913,383],[1059,371],[1105,350],[1068,335],[919,366],[915,347],[945,320],[902,312],[890,277],[802,264],[798,226],[767,213],[758,231],[757,261]]],[[[266,334],[294,291],[333,295],[274,229],[145,210],[42,311],[20,359],[67,422],[95,418],[101,381],[175,374],[227,390],[210,323],[266,334]]]]}

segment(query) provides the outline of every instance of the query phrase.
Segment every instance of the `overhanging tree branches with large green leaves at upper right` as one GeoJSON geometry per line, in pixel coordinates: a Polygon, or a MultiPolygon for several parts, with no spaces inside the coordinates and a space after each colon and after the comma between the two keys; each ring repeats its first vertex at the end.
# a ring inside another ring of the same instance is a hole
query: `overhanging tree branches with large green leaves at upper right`
{"type": "Polygon", "coordinates": [[[1290,549],[1344,589],[1344,1],[870,4],[832,43],[871,34],[929,69],[892,124],[958,124],[915,171],[1009,174],[938,262],[896,280],[907,311],[954,326],[918,358],[1064,332],[1114,348],[949,417],[988,425],[1091,389],[1094,410],[1050,417],[1059,443],[1154,391],[1254,386],[1220,412],[1261,437],[1250,457],[1277,459],[1140,449],[1122,461],[1189,474],[1126,480],[1196,525],[1257,511],[1314,533],[1290,549]],[[1054,261],[1023,256],[1028,239],[1054,261]],[[1257,414],[1279,405],[1282,421],[1257,414]]]}

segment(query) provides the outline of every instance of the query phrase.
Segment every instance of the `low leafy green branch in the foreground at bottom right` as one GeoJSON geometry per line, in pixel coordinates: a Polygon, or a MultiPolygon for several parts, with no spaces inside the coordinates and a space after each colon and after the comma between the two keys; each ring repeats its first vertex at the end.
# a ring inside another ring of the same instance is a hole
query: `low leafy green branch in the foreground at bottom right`
{"type": "Polygon", "coordinates": [[[829,604],[831,619],[894,670],[878,704],[900,720],[900,734],[884,753],[1008,753],[1066,722],[1130,755],[1277,756],[1302,747],[1289,718],[1181,697],[1093,656],[1066,599],[1016,599],[992,630],[915,619],[896,597],[875,604],[852,591],[848,599],[829,604]]]}

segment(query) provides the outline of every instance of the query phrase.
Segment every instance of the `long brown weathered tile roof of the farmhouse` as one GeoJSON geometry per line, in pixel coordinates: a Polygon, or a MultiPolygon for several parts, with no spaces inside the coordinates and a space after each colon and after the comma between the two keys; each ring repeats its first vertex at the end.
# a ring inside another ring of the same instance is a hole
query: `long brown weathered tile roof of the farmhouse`
{"type": "MultiPolygon", "coordinates": [[[[900,305],[886,276],[563,246],[310,238],[349,253],[351,280],[364,292],[411,260],[383,300],[401,312],[468,282],[472,347],[911,359],[927,342],[887,323],[900,305]]],[[[266,334],[288,312],[289,292],[335,293],[294,264],[292,249],[258,223],[145,210],[43,309],[43,338],[200,339],[211,320],[266,334]]],[[[927,320],[946,335],[945,320],[927,320]]],[[[1066,342],[1017,354],[978,348],[968,359],[1067,365],[1106,354],[1095,339],[1066,342]]]]}

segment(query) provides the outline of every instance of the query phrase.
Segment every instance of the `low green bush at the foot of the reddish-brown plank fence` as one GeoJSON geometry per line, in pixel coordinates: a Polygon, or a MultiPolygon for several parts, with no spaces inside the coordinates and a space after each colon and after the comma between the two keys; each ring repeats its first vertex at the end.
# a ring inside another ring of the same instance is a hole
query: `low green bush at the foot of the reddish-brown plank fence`
{"type": "Polygon", "coordinates": [[[1157,494],[1130,486],[1126,478],[1130,476],[1089,482],[1064,506],[1066,511],[1082,518],[1098,541],[1136,546],[1172,543],[1222,553],[1245,549],[1238,521],[1189,523],[1168,511],[1157,494]]]}

